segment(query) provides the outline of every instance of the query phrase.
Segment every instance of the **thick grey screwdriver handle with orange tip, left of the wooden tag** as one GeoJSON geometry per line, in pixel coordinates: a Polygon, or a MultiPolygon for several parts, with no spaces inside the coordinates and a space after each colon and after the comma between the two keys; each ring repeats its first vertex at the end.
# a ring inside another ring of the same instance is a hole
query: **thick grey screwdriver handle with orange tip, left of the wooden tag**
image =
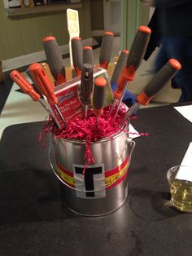
{"type": "Polygon", "coordinates": [[[50,72],[55,78],[56,85],[66,82],[65,67],[59,45],[55,37],[46,37],[42,40],[46,53],[46,60],[50,66],[50,72]]]}

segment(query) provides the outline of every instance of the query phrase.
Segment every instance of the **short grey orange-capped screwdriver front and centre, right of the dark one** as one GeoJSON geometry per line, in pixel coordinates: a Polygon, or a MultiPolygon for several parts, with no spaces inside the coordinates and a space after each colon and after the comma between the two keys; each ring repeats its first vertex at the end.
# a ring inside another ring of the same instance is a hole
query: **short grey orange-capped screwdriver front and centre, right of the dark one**
{"type": "Polygon", "coordinates": [[[103,106],[105,102],[107,81],[104,77],[98,77],[94,80],[94,115],[96,119],[96,129],[98,129],[98,117],[103,114],[103,106]]]}

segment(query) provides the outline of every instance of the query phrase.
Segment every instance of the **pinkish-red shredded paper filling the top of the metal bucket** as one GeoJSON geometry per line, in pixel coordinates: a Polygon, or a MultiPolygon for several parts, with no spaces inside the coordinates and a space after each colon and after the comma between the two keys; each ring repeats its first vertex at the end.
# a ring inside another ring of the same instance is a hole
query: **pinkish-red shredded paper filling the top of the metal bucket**
{"type": "MultiPolygon", "coordinates": [[[[65,130],[59,130],[59,128],[55,128],[55,121],[53,121],[50,117],[48,123],[44,126],[44,132],[47,134],[51,132],[54,138],[59,139],[76,139],[79,141],[85,141],[85,169],[89,164],[94,163],[94,157],[92,157],[92,153],[90,150],[90,143],[97,141],[98,139],[109,138],[113,139],[113,135],[116,135],[118,132],[124,131],[128,132],[128,130],[121,130],[120,121],[126,112],[126,108],[121,107],[119,110],[116,119],[113,120],[108,117],[109,108],[106,108],[103,112],[103,115],[98,117],[98,125],[97,125],[97,117],[94,115],[89,116],[87,120],[80,119],[75,117],[68,123],[68,126],[65,130]]],[[[124,126],[125,127],[125,126],[124,126]]],[[[85,171],[85,170],[84,170],[85,171]]]]}

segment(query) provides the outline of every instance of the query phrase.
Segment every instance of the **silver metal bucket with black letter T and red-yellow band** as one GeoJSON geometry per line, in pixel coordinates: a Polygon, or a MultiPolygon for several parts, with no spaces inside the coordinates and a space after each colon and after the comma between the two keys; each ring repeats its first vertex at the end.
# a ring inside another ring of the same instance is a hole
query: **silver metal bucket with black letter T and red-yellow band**
{"type": "Polygon", "coordinates": [[[55,175],[63,203],[76,214],[100,216],[123,205],[128,196],[128,167],[135,142],[126,132],[90,143],[95,163],[85,169],[85,141],[53,139],[55,175]],[[83,174],[85,170],[85,174],[83,174]]]}

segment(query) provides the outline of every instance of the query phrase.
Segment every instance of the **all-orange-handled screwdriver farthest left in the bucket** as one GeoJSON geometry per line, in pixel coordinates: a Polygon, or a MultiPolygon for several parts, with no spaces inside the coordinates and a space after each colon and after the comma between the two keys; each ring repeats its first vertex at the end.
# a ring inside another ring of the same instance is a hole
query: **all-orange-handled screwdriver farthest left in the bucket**
{"type": "Polygon", "coordinates": [[[10,77],[12,80],[20,86],[20,89],[24,91],[24,93],[28,94],[33,101],[37,101],[46,108],[46,111],[50,112],[46,105],[41,101],[41,95],[39,95],[33,88],[33,86],[24,78],[24,76],[18,72],[17,70],[13,70],[10,73],[10,77]]]}

